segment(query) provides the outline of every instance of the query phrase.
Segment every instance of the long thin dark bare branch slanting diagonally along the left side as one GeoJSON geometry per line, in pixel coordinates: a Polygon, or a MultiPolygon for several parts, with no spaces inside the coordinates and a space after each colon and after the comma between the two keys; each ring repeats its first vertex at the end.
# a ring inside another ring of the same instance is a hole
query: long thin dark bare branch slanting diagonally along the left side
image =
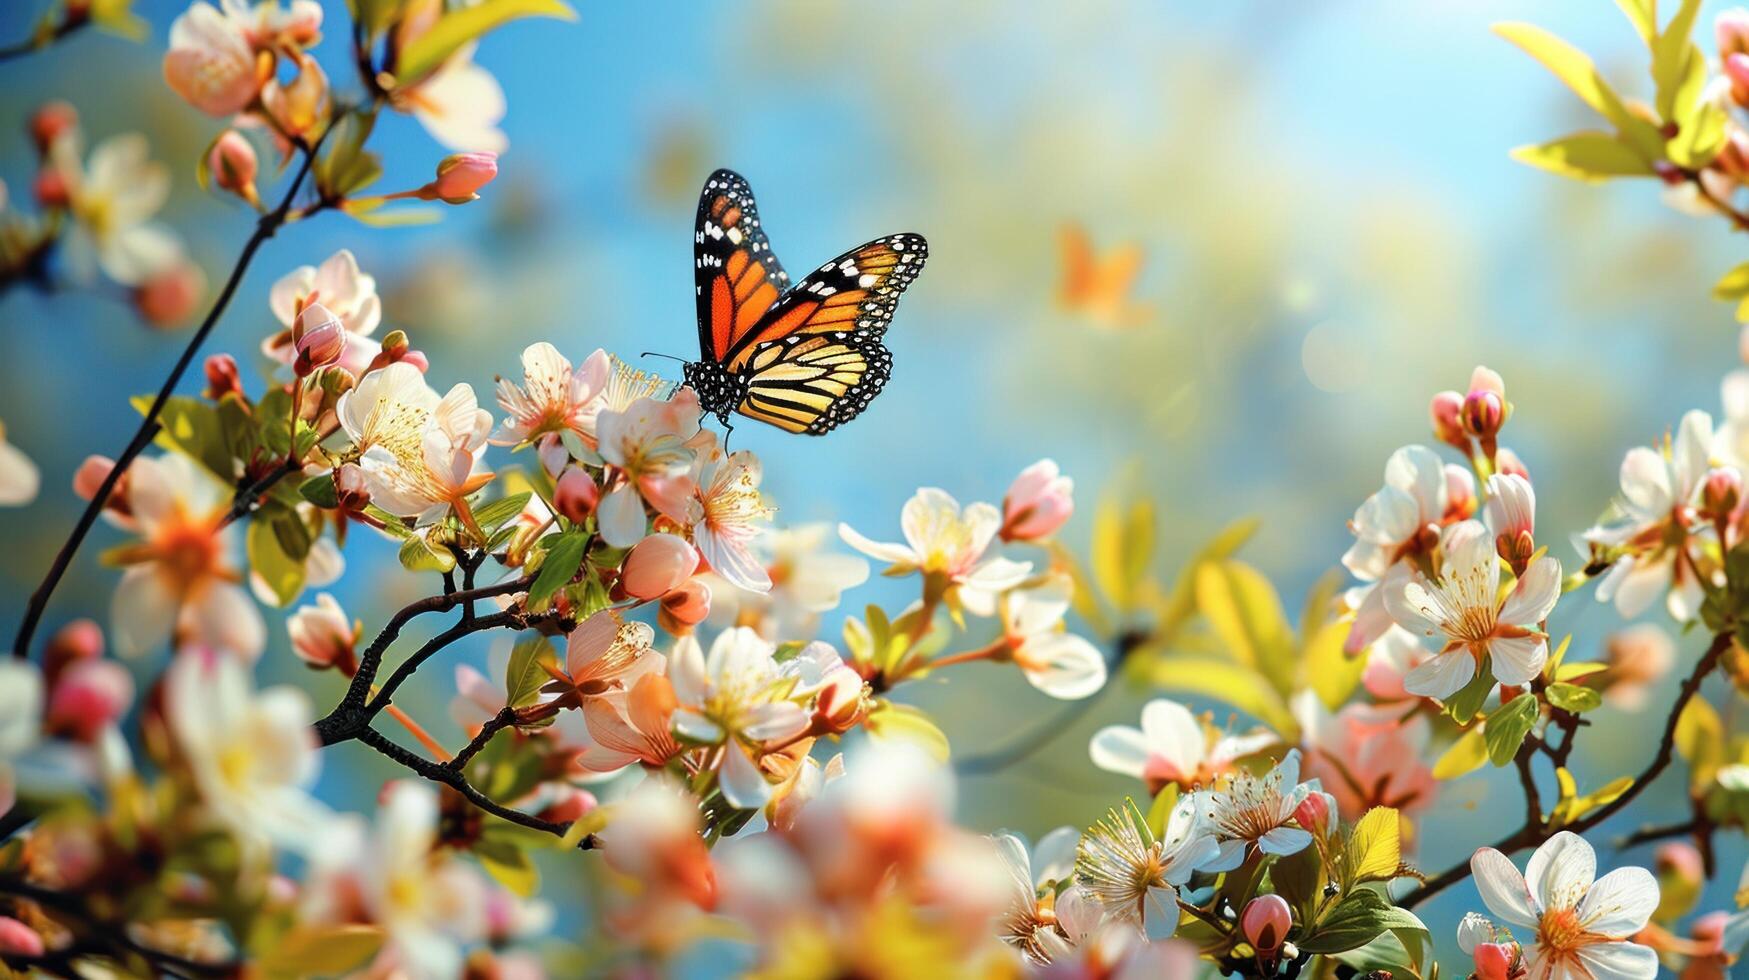
{"type": "MultiPolygon", "coordinates": [[[[329,130],[332,131],[332,128],[329,130]]],[[[108,504],[108,499],[115,492],[115,485],[121,481],[122,474],[128,472],[133,460],[152,444],[152,439],[157,438],[161,429],[157,416],[164,411],[164,404],[170,402],[170,396],[177,390],[177,383],[182,382],[182,374],[187,373],[189,364],[194,362],[194,355],[199,354],[213,327],[219,326],[219,317],[224,315],[226,308],[231,304],[231,298],[236,296],[238,285],[243,284],[243,273],[248,270],[255,252],[261,250],[262,243],[266,243],[268,238],[273,238],[280,226],[285,224],[285,217],[292,210],[292,200],[297,198],[297,192],[304,186],[304,178],[310,175],[310,168],[315,164],[318,147],[320,140],[317,142],[317,147],[310,147],[304,152],[303,164],[297,168],[297,175],[292,177],[292,186],[287,187],[285,196],[280,200],[280,206],[261,215],[261,220],[255,222],[255,231],[248,236],[248,242],[243,243],[243,252],[231,268],[231,276],[226,278],[224,289],[219,290],[219,298],[213,301],[212,310],[206,312],[206,318],[201,320],[199,329],[194,331],[187,346],[182,348],[182,357],[177,359],[175,368],[170,369],[170,376],[164,378],[163,387],[157,388],[157,397],[152,399],[152,406],[145,411],[145,416],[140,418],[140,429],[133,434],[133,439],[121,452],[121,455],[115,457],[115,466],[110,467],[108,476],[103,478],[96,494],[91,495],[91,502],[86,504],[86,511],[79,514],[79,522],[73,525],[66,542],[61,544],[61,550],[49,564],[49,572],[42,578],[42,584],[38,584],[37,592],[30,595],[30,604],[24,607],[24,620],[19,623],[17,635],[12,639],[12,656],[30,656],[30,640],[37,634],[37,625],[42,623],[42,612],[49,606],[49,597],[54,595],[56,586],[61,584],[61,578],[73,564],[73,555],[79,551],[79,546],[84,544],[86,536],[91,534],[91,527],[96,523],[98,514],[103,513],[103,508],[108,504]]]]}

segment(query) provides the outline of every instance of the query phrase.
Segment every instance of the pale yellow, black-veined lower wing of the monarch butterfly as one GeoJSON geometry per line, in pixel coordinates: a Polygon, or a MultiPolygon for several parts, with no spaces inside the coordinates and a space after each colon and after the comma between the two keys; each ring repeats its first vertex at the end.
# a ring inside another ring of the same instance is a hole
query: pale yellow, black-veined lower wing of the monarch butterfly
{"type": "Polygon", "coordinates": [[[892,376],[878,332],[801,332],[749,350],[735,408],[789,432],[824,436],[874,401],[892,376]]]}

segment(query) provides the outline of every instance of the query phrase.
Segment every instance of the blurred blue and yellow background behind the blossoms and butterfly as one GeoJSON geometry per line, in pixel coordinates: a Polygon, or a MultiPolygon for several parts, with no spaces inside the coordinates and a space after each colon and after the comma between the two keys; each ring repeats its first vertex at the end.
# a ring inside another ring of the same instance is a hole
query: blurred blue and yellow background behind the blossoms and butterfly
{"type": "MultiPolygon", "coordinates": [[[[325,5],[332,23],[345,18],[343,4],[325,5]]],[[[23,35],[35,7],[0,4],[0,37],[23,35]]],[[[28,187],[24,122],[47,98],[75,103],[91,140],[145,131],[177,173],[166,219],[217,282],[252,217],[198,191],[194,159],[215,122],[159,79],[168,23],[185,5],[138,7],[152,23],[143,44],[86,32],[0,65],[0,178],[16,194],[28,187]]],[[[430,228],[324,215],[287,229],[210,350],[259,368],[254,352],[276,329],[268,287],[346,247],[387,294],[383,329],[413,334],[439,387],[486,390],[535,340],[574,359],[595,346],[691,355],[698,184],[733,166],[792,270],[883,233],[930,240],[929,270],[888,336],[894,380],[864,418],[826,439],[736,429],[736,444],[766,460],[782,522],[845,520],[890,539],[918,485],[999,500],[1021,466],[1055,457],[1083,500],[1067,530],[1077,548],[1091,502],[1119,481],[1160,506],[1161,574],[1254,514],[1263,528],[1244,555],[1289,609],[1336,565],[1345,520],[1387,453],[1431,439],[1427,397],[1460,387],[1474,364],[1504,373],[1518,410],[1508,443],[1537,478],[1544,537],[1572,560],[1560,541],[1614,494],[1621,453],[1686,408],[1718,411],[1719,378],[1737,362],[1730,308],[1707,298],[1744,257],[1723,222],[1665,208],[1649,182],[1585,187],[1506,156],[1586,119],[1488,24],[1537,21],[1634,91],[1644,51],[1602,0],[649,0],[581,14],[514,24],[481,47],[511,103],[511,149],[486,200],[430,228]],[[1147,315],[1132,329],[1058,304],[1065,222],[1100,248],[1146,250],[1135,301],[1147,315]]],[[[352,79],[339,38],[318,54],[341,86],[352,79]]],[[[442,156],[404,117],[385,117],[374,145],[385,189],[423,182],[442,156]]],[[[124,396],[156,388],[184,341],[138,326],[112,296],[0,298],[0,420],[44,471],[42,497],[0,516],[5,628],[77,514],[73,467],[121,448],[136,420],[124,396]]],[[[107,534],[80,555],[49,626],[103,618],[107,534]]],[[[367,536],[348,562],[332,592],[367,626],[429,590],[367,536]]],[[[874,581],[847,607],[902,598],[874,581]]],[[[296,665],[283,612],[268,621],[264,677],[332,702],[338,679],[296,665]]],[[[1574,656],[1595,654],[1618,625],[1588,593],[1557,616],[1576,634],[1574,656]]],[[[451,738],[449,665],[484,649],[446,654],[413,693],[415,712],[451,738]]],[[[1683,649],[1691,662],[1697,639],[1683,649]]],[[[916,696],[958,752],[1002,746],[1060,710],[1011,670],[950,677],[916,696]]],[[[1111,690],[1035,758],[967,779],[964,822],[1037,836],[1091,821],[1133,788],[1088,765],[1086,737],[1133,723],[1147,695],[1111,690]]],[[[1616,712],[1588,730],[1581,786],[1639,768],[1658,724],[1616,712]]],[[[322,791],[343,807],[367,807],[390,775],[357,747],[325,761],[322,791]]],[[[1669,786],[1599,844],[1677,817],[1679,780],[1669,786]]],[[[1520,814],[1508,780],[1467,777],[1446,788],[1417,859],[1443,868],[1520,814]]],[[[1726,901],[1742,858],[1726,840],[1707,905],[1726,901]]],[[[1649,854],[1606,847],[1614,859],[1649,854]]],[[[574,866],[547,870],[561,933],[577,931],[588,882],[574,866]]],[[[1424,906],[1446,956],[1459,915],[1476,906],[1469,884],[1424,906]]]]}

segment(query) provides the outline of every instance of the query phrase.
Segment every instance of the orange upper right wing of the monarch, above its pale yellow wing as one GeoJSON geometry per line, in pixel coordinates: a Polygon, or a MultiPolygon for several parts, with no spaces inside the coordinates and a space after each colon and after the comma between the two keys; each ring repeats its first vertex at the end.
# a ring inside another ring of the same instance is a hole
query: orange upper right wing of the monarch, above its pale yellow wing
{"type": "Polygon", "coordinates": [[[859,334],[880,338],[929,259],[922,234],[888,234],[826,262],[785,292],[722,357],[743,371],[763,345],[799,336],[859,334]]]}

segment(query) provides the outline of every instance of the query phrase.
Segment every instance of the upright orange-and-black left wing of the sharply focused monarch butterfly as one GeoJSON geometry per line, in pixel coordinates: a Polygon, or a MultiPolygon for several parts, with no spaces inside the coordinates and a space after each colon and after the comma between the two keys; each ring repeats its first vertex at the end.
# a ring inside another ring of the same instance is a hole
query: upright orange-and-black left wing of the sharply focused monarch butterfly
{"type": "Polygon", "coordinates": [[[752,187],[733,170],[712,173],[698,196],[693,285],[700,355],[717,362],[745,341],[789,287],[759,226],[752,187]]]}

